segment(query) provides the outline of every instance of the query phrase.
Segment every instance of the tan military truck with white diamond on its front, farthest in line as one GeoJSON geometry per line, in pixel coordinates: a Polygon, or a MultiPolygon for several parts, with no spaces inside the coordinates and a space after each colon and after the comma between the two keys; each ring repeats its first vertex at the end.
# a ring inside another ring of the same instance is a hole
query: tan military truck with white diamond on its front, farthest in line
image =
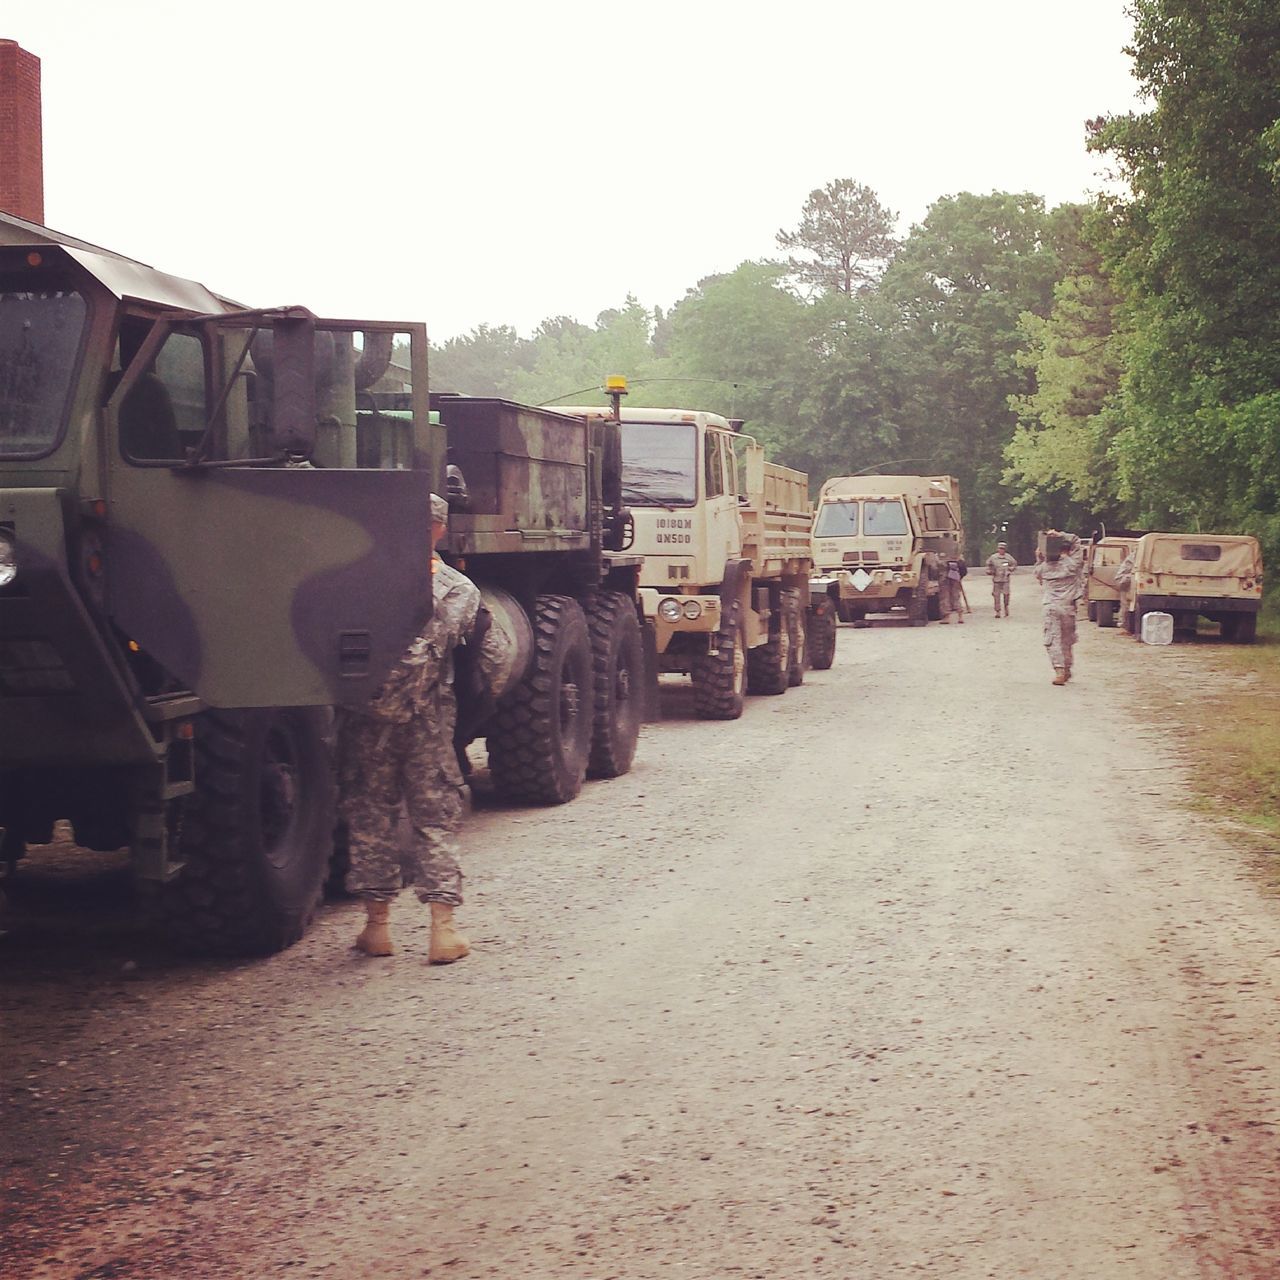
{"type": "Polygon", "coordinates": [[[911,626],[938,621],[940,581],[963,554],[960,485],[951,476],[836,476],[813,518],[813,590],[842,622],[901,609],[911,626]]]}

